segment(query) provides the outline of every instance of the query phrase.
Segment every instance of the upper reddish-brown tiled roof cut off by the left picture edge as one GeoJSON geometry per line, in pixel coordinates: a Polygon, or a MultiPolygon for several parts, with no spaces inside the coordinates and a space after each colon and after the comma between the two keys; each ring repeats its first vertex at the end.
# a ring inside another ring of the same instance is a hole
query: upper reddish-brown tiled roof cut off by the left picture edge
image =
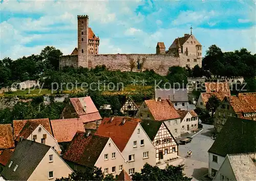
{"type": "Polygon", "coordinates": [[[0,124],[0,149],[14,146],[11,124],[0,124]]]}

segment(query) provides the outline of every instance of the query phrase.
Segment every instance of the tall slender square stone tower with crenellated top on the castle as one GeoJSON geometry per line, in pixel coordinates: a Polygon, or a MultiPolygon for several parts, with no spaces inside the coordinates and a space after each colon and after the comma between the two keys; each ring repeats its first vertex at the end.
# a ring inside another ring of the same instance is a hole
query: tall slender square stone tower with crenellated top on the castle
{"type": "Polygon", "coordinates": [[[88,67],[88,15],[77,16],[78,67],[88,67]]]}

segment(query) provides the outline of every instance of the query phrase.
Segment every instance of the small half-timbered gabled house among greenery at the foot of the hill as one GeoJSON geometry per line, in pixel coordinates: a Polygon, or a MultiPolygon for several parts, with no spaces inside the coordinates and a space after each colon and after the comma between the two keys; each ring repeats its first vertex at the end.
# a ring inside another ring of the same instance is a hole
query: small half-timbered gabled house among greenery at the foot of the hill
{"type": "Polygon", "coordinates": [[[138,112],[139,108],[131,97],[128,97],[120,109],[120,112],[125,116],[135,116],[138,112]]]}

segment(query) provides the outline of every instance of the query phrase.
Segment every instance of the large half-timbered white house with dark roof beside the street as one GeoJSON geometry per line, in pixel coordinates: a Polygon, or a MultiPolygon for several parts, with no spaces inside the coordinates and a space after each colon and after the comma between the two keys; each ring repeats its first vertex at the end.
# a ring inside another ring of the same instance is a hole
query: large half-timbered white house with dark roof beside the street
{"type": "Polygon", "coordinates": [[[143,120],[141,126],[156,147],[156,162],[177,158],[178,143],[164,122],[143,120]]]}

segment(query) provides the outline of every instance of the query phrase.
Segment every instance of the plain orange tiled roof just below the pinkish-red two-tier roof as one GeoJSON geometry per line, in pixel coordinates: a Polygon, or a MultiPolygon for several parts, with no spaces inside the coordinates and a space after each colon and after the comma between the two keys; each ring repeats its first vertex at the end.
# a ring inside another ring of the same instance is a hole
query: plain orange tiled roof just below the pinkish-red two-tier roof
{"type": "Polygon", "coordinates": [[[77,131],[85,132],[80,118],[51,120],[54,138],[61,142],[70,142],[77,131]]]}

